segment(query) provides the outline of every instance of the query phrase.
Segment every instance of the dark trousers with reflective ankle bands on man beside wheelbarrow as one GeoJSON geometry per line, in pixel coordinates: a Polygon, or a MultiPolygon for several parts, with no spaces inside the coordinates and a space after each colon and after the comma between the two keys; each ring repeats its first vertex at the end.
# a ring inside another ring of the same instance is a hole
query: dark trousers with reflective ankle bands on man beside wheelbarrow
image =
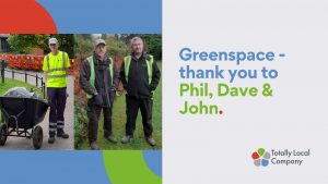
{"type": "Polygon", "coordinates": [[[57,130],[62,130],[65,125],[63,112],[66,107],[66,87],[47,87],[49,113],[49,135],[55,135],[57,130]]]}

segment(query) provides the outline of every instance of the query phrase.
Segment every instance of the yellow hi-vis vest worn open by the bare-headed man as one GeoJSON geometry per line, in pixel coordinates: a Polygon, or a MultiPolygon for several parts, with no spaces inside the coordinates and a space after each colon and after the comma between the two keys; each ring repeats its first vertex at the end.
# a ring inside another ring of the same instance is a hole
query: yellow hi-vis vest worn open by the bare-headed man
{"type": "MultiPolygon", "coordinates": [[[[128,82],[129,79],[129,71],[130,71],[130,64],[131,64],[131,56],[125,57],[125,75],[126,75],[126,81],[128,82]]],[[[148,54],[145,57],[145,63],[147,63],[147,72],[148,72],[148,84],[150,85],[152,83],[152,77],[153,77],[153,62],[154,62],[154,57],[151,54],[148,54]]]]}

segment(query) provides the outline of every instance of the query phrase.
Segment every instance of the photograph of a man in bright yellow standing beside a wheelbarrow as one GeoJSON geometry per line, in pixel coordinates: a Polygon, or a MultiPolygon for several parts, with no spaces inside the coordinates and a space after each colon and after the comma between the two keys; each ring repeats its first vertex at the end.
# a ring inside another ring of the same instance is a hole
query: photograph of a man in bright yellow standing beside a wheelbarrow
{"type": "Polygon", "coordinates": [[[0,150],[74,149],[74,42],[0,34],[0,150]]]}

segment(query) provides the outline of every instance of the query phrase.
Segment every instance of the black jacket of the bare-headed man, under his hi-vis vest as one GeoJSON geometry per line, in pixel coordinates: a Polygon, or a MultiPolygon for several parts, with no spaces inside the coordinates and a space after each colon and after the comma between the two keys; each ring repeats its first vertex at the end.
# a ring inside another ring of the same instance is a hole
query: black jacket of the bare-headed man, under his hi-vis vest
{"type": "Polygon", "coordinates": [[[139,59],[131,54],[131,63],[129,69],[129,78],[128,82],[126,79],[125,74],[125,62],[120,68],[120,81],[124,85],[124,88],[127,90],[128,95],[134,98],[151,98],[152,91],[156,89],[160,78],[161,72],[156,64],[156,61],[153,62],[153,72],[152,72],[152,81],[151,84],[148,82],[148,66],[145,59],[149,54],[143,53],[139,59]]]}

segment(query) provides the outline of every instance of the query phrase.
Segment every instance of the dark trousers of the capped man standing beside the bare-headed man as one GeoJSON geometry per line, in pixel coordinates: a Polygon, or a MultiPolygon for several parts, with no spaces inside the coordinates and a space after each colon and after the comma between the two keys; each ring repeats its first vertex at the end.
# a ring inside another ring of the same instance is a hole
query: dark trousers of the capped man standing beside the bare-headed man
{"type": "Polygon", "coordinates": [[[87,102],[87,118],[89,118],[89,142],[96,142],[97,140],[97,133],[98,133],[98,119],[102,113],[104,112],[104,136],[112,135],[112,107],[104,108],[101,106],[93,105],[91,101],[87,102]]]}

